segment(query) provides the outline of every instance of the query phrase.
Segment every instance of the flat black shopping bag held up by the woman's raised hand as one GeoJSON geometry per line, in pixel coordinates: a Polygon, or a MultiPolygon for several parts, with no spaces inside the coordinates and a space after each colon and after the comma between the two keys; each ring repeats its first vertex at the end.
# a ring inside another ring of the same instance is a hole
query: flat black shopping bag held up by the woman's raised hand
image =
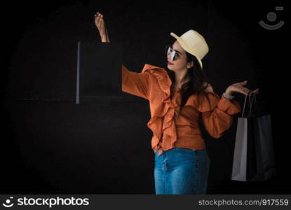
{"type": "Polygon", "coordinates": [[[76,104],[116,104],[122,98],[122,43],[79,41],[76,104]]]}

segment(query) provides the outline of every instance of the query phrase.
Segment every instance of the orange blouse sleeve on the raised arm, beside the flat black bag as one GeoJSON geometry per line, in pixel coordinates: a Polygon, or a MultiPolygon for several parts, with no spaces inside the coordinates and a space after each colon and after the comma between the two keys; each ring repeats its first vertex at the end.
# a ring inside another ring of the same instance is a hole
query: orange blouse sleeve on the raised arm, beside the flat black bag
{"type": "Polygon", "coordinates": [[[151,74],[148,72],[129,71],[122,65],[122,91],[149,99],[151,74]]]}

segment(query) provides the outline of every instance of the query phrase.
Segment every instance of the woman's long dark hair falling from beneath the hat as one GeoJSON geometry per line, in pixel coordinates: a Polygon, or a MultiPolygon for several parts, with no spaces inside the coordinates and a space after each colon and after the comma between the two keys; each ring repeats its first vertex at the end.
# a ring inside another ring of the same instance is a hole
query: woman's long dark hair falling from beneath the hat
{"type": "MultiPolygon", "coordinates": [[[[185,77],[183,78],[186,79],[187,77],[190,78],[188,83],[184,83],[181,87],[181,97],[182,97],[182,102],[180,106],[180,111],[186,104],[187,100],[192,94],[197,94],[198,101],[197,103],[200,104],[201,102],[201,95],[203,94],[206,99],[208,99],[208,94],[207,91],[204,91],[209,84],[209,80],[207,76],[205,75],[205,72],[202,71],[201,66],[197,60],[197,58],[194,55],[191,55],[189,52],[185,51],[187,55],[187,63],[193,61],[194,66],[192,66],[190,69],[188,69],[185,77]]],[[[171,90],[171,96],[173,94],[172,92],[172,87],[175,83],[175,72],[174,71],[168,71],[168,75],[170,77],[170,80],[172,80],[172,85],[170,87],[171,90]]],[[[208,102],[210,103],[209,99],[208,102]]]]}

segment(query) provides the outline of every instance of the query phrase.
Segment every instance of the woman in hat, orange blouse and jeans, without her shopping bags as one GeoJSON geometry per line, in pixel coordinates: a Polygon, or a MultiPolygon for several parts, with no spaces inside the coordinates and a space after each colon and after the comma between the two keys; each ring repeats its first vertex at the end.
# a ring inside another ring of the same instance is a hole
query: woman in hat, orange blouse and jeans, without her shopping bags
{"type": "MultiPolygon", "coordinates": [[[[102,42],[109,42],[101,13],[95,14],[95,25],[102,42]]],[[[205,194],[210,159],[199,120],[212,137],[221,137],[241,111],[231,94],[257,94],[259,89],[248,90],[244,81],[219,97],[203,73],[201,59],[208,52],[203,36],[194,30],[170,35],[177,39],[165,48],[170,71],[145,64],[137,73],[122,65],[122,90],[150,102],[156,194],[205,194]]]]}

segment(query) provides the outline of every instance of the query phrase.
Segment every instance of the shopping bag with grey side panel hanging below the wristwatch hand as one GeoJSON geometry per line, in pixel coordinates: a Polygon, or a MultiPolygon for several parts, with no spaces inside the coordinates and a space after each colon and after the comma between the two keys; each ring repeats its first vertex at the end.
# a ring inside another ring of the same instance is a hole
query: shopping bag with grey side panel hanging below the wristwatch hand
{"type": "Polygon", "coordinates": [[[266,181],[276,176],[271,116],[259,109],[256,95],[252,95],[251,91],[245,96],[245,102],[248,97],[248,116],[243,116],[244,103],[242,117],[238,118],[231,180],[266,181]],[[252,110],[254,98],[255,109],[252,110]]]}

